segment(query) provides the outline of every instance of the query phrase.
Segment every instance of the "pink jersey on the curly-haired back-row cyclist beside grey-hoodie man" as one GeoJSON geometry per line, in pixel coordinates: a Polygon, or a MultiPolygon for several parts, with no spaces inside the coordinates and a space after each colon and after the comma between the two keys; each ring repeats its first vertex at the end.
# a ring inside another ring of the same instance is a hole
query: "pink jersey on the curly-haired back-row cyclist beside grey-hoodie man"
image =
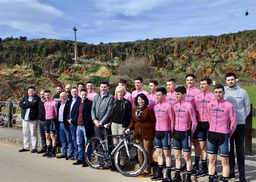
{"type": "Polygon", "coordinates": [[[197,121],[208,121],[207,104],[215,100],[214,94],[210,91],[206,93],[200,93],[195,97],[196,110],[198,113],[197,121]]]}

